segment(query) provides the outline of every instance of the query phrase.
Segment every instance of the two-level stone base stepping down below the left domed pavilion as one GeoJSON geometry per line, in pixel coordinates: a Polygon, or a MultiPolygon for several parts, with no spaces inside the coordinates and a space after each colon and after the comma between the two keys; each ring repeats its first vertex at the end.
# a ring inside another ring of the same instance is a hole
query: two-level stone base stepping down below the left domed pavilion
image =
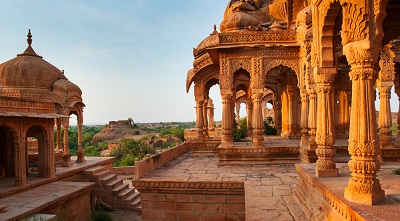
{"type": "MultiPolygon", "coordinates": [[[[76,157],[72,157],[72,161],[75,160],[76,157]]],[[[44,212],[59,214],[64,210],[69,211],[68,214],[61,214],[66,215],[66,220],[88,220],[86,215],[90,213],[90,191],[95,184],[79,182],[86,181],[80,174],[98,166],[112,169],[113,161],[112,157],[86,157],[85,163],[56,167],[53,178],[29,174],[27,184],[21,187],[15,186],[14,177],[0,178],[0,205],[7,206],[1,211],[4,213],[0,213],[0,221],[20,220],[44,212]]]]}

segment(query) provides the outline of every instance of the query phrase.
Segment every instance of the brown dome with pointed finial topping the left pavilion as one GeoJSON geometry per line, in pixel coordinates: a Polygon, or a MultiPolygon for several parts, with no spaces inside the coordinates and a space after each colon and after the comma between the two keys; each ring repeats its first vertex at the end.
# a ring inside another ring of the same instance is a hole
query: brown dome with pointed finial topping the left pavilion
{"type": "Polygon", "coordinates": [[[16,58],[0,64],[0,84],[3,87],[51,89],[62,72],[37,55],[33,50],[32,35],[28,33],[28,48],[16,58]]]}

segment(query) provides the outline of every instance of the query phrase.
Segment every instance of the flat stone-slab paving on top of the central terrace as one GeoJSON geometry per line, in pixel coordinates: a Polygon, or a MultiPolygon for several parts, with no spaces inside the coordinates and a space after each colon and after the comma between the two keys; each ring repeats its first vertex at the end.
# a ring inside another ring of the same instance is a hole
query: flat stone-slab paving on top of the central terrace
{"type": "Polygon", "coordinates": [[[307,220],[293,197],[298,175],[294,165],[218,166],[217,157],[190,157],[190,152],[141,180],[241,181],[246,220],[307,220]]]}

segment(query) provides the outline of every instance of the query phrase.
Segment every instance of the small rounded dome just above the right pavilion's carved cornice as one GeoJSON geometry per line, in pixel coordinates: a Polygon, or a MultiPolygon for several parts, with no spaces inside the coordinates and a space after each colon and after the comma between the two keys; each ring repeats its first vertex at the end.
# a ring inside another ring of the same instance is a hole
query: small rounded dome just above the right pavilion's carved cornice
{"type": "Polygon", "coordinates": [[[235,12],[221,22],[221,32],[248,30],[250,26],[257,26],[260,23],[255,17],[244,13],[235,12]]]}

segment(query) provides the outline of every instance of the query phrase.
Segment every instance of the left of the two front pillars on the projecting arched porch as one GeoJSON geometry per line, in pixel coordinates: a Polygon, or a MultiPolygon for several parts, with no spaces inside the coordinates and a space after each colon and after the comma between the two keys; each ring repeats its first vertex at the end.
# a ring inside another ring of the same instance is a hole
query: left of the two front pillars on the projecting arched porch
{"type": "Polygon", "coordinates": [[[233,113],[232,113],[232,95],[222,94],[222,137],[221,147],[229,148],[233,146],[233,113]]]}

